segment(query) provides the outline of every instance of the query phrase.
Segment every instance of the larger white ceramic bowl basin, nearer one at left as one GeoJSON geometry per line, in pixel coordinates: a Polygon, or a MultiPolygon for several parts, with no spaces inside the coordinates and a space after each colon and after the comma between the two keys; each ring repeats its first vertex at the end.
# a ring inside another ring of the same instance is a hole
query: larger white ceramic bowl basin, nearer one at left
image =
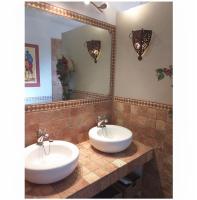
{"type": "MultiPolygon", "coordinates": [[[[46,153],[49,142],[44,142],[46,153]]],[[[73,172],[79,158],[78,147],[70,142],[50,142],[46,155],[42,146],[32,144],[25,148],[25,179],[32,183],[49,184],[59,181],[73,172]]]]}

